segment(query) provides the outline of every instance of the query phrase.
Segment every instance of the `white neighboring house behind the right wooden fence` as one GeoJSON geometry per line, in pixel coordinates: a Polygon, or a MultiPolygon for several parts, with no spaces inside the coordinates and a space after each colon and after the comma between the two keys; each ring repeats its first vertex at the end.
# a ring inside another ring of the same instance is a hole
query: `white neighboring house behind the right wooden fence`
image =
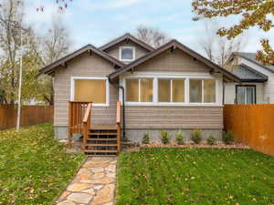
{"type": "Polygon", "coordinates": [[[262,65],[255,53],[233,53],[226,68],[241,83],[226,84],[225,104],[274,103],[274,67],[262,65]]]}

